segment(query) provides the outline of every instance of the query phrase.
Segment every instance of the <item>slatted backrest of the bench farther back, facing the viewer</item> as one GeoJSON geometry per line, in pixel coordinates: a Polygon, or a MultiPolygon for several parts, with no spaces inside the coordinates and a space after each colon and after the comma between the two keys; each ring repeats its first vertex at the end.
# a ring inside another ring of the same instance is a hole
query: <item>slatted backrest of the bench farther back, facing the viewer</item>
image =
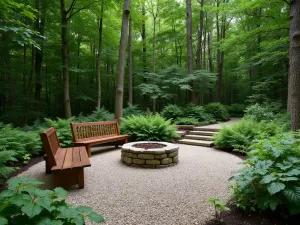
{"type": "Polygon", "coordinates": [[[99,137],[120,135],[118,121],[71,123],[73,141],[86,141],[99,137]]]}

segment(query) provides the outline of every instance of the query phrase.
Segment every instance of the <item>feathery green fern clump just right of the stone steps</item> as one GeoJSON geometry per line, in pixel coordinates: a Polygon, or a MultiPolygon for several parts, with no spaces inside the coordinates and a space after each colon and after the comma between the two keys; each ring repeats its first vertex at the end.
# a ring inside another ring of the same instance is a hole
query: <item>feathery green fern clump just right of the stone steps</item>
{"type": "Polygon", "coordinates": [[[246,153],[248,147],[256,139],[274,136],[281,133],[275,123],[241,120],[231,127],[223,127],[214,137],[214,144],[223,149],[234,149],[246,153]]]}

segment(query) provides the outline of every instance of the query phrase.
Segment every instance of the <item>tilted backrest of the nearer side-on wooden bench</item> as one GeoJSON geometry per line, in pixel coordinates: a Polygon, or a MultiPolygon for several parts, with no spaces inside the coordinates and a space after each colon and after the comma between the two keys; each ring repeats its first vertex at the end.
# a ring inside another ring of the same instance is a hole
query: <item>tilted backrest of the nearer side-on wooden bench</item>
{"type": "Polygon", "coordinates": [[[49,165],[51,167],[56,166],[55,154],[61,146],[56,135],[55,128],[50,127],[48,130],[42,132],[40,135],[43,142],[44,151],[48,156],[49,165]]]}

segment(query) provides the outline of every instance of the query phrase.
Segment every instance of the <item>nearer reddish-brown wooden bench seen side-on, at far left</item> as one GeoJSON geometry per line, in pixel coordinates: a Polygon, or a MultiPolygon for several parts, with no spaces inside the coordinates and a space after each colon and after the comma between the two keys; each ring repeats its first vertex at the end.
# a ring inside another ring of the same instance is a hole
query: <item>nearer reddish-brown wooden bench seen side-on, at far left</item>
{"type": "Polygon", "coordinates": [[[55,187],[78,184],[84,188],[83,168],[91,166],[85,147],[61,148],[54,127],[41,133],[46,153],[46,173],[54,175],[55,187]]]}

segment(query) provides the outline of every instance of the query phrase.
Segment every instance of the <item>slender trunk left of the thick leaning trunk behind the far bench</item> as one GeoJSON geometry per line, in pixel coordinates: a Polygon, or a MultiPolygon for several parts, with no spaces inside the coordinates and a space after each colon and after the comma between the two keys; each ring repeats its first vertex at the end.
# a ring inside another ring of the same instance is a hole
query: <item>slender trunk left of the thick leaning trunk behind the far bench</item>
{"type": "Polygon", "coordinates": [[[101,1],[101,15],[99,19],[99,43],[98,43],[98,55],[97,55],[97,108],[101,107],[101,74],[100,74],[100,62],[101,62],[101,50],[102,50],[102,28],[103,28],[103,0],[101,1]]]}

